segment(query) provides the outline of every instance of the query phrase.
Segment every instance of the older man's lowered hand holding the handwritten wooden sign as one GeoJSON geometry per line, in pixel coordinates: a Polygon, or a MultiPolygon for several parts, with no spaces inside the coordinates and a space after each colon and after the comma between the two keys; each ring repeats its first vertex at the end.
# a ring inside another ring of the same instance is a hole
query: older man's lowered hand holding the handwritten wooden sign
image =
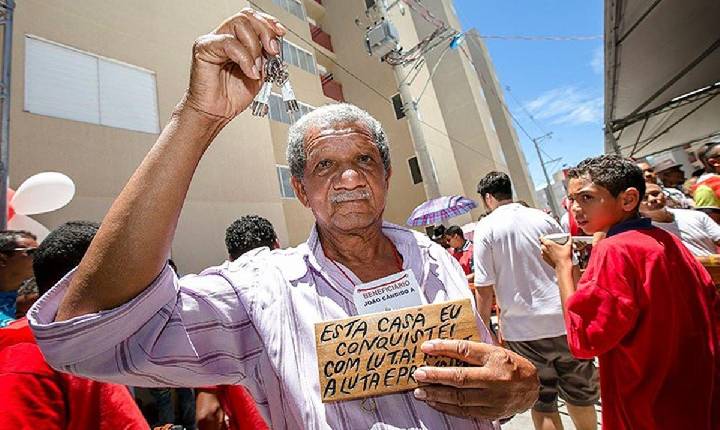
{"type": "Polygon", "coordinates": [[[415,398],[450,415],[497,419],[529,409],[538,398],[537,369],[504,348],[465,340],[431,340],[429,355],[456,358],[470,367],[421,367],[415,380],[424,385],[415,398]]]}

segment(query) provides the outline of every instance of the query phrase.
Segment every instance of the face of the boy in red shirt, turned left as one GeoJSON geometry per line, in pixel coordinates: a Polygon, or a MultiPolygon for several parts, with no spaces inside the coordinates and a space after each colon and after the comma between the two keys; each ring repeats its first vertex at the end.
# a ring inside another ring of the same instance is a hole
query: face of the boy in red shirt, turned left
{"type": "Polygon", "coordinates": [[[630,218],[637,211],[639,196],[637,189],[628,188],[613,197],[588,177],[572,178],[568,182],[570,210],[578,227],[588,234],[607,232],[613,225],[630,218]]]}

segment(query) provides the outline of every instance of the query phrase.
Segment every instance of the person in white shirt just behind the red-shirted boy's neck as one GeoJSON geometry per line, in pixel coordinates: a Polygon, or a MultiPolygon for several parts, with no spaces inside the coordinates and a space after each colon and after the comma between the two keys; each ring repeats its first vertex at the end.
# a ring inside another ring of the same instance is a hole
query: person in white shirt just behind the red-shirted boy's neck
{"type": "Polygon", "coordinates": [[[680,238],[694,255],[717,254],[720,245],[720,226],[706,214],[688,209],[671,209],[662,188],[656,184],[645,184],[645,197],[640,212],[652,219],[656,227],[669,231],[680,238]]]}

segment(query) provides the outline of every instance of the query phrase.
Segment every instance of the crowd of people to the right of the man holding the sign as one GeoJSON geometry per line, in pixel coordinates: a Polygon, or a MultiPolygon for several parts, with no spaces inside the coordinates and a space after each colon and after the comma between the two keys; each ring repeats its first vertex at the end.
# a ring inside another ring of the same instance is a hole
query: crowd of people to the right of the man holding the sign
{"type": "MultiPolygon", "coordinates": [[[[710,172],[716,161],[707,154],[718,147],[720,142],[713,142],[701,149],[700,159],[710,172]]],[[[546,212],[514,201],[509,177],[491,172],[478,184],[488,213],[474,229],[434,230],[436,242],[448,248],[472,279],[478,312],[495,329],[496,342],[537,368],[536,429],[562,428],[558,396],[576,428],[596,428],[593,406],[601,387],[605,428],[718,425],[720,359],[712,351],[720,302],[695,257],[718,254],[720,226],[694,209],[700,205],[692,193],[715,174],[698,175],[703,179],[685,194],[670,189],[670,184],[686,182],[676,173],[679,167],[661,170],[659,182],[645,162],[617,156],[581,162],[569,171],[565,227],[546,212]],[[556,241],[543,239],[558,233],[568,236],[563,252],[556,241]],[[573,246],[571,235],[594,235],[593,243],[573,246]],[[589,261],[581,254],[589,254],[589,261]],[[490,322],[495,302],[497,325],[490,322]],[[668,333],[705,333],[692,347],[704,350],[697,362],[703,371],[684,370],[689,345],[684,339],[668,344],[668,333]],[[603,369],[601,381],[592,360],[596,357],[603,369]],[[697,379],[691,381],[693,373],[697,379]],[[661,382],[652,387],[655,378],[661,382]],[[708,378],[704,386],[695,385],[702,378],[708,378]],[[663,392],[664,386],[675,393],[663,392]],[[674,398],[680,392],[684,394],[674,398]],[[705,413],[697,414],[702,404],[705,413]],[[715,424],[709,425],[707,417],[715,424]]]]}

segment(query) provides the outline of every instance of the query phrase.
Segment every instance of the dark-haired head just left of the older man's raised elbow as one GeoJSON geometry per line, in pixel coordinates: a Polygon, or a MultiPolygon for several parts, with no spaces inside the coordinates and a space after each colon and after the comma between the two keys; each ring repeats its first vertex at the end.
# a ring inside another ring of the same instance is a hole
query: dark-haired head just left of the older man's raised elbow
{"type": "Polygon", "coordinates": [[[70,221],[56,228],[33,255],[33,273],[40,295],[74,269],[82,260],[100,224],[70,221]]]}

